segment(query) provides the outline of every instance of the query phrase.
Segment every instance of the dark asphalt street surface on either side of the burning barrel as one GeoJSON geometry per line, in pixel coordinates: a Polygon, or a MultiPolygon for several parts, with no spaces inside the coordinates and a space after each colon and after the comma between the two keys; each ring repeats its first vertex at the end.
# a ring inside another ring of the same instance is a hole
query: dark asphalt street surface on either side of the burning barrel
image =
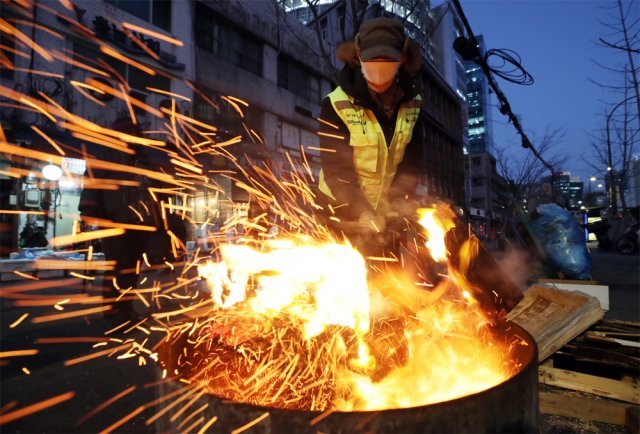
{"type": "MultiPolygon", "coordinates": [[[[594,250],[592,257],[593,278],[601,284],[609,285],[611,310],[606,317],[640,320],[638,256],[594,250]]],[[[70,288],[73,288],[73,285],[66,290],[69,291],[70,288]]],[[[49,313],[52,310],[50,306],[40,309],[43,312],[48,310],[49,313]]],[[[137,358],[115,360],[107,355],[71,366],[64,364],[66,360],[100,351],[99,347],[91,347],[112,327],[111,324],[106,323],[98,314],[82,319],[41,324],[25,321],[10,329],[8,324],[23,312],[24,308],[16,308],[11,300],[3,299],[1,350],[37,348],[40,352],[33,356],[4,359],[0,389],[2,412],[5,413],[11,408],[26,407],[68,392],[74,392],[75,395],[51,408],[4,425],[3,432],[99,432],[128,415],[132,416],[129,416],[129,420],[124,421],[117,431],[157,430],[155,423],[147,425],[146,421],[160,411],[161,407],[139,409],[161,395],[157,384],[154,384],[160,379],[161,372],[153,364],[138,366],[137,358]],[[35,342],[47,342],[47,338],[53,337],[86,337],[94,338],[94,342],[34,345],[35,342]],[[22,370],[23,367],[29,370],[28,375],[22,370]],[[113,403],[109,402],[118,396],[121,397],[113,403]],[[104,408],[94,414],[94,409],[101,405],[104,408]],[[79,421],[82,423],[78,424],[79,421]]],[[[33,315],[38,313],[33,308],[30,308],[30,312],[33,312],[33,315]]],[[[129,334],[128,337],[142,341],[145,335],[138,331],[129,334]]]]}

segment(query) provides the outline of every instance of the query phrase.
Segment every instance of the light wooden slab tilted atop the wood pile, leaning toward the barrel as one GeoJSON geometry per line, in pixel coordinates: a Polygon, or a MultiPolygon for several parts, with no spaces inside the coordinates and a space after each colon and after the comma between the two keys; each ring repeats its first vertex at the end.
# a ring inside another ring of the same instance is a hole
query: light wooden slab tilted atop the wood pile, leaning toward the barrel
{"type": "Polygon", "coordinates": [[[507,315],[538,344],[543,361],[604,316],[598,299],[549,286],[532,286],[507,315]]]}

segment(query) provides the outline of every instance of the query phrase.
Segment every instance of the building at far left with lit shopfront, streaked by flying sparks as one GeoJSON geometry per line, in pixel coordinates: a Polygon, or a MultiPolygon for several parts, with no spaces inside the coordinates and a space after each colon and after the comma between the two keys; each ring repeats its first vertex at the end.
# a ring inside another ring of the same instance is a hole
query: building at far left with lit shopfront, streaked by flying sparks
{"type": "MultiPolygon", "coordinates": [[[[33,44],[27,46],[12,35],[15,32],[2,32],[2,54],[9,63],[1,69],[0,84],[57,104],[99,127],[111,128],[116,119],[131,116],[143,130],[160,131],[166,119],[159,110],[171,106],[170,95],[180,95],[175,98],[178,110],[191,111],[193,91],[187,82],[195,78],[192,8],[185,5],[157,0],[3,4],[2,18],[33,44]],[[139,28],[153,34],[132,30],[139,28]]],[[[7,176],[7,170],[0,174],[0,208],[24,211],[1,217],[12,229],[2,231],[0,255],[5,256],[26,246],[27,232],[36,231],[46,240],[71,233],[83,188],[83,155],[95,145],[95,139],[59,119],[18,108],[7,97],[5,93],[0,107],[7,140],[34,151],[63,154],[64,173],[52,185],[39,167],[22,167],[14,159],[0,161],[14,171],[14,176],[7,176]]]]}

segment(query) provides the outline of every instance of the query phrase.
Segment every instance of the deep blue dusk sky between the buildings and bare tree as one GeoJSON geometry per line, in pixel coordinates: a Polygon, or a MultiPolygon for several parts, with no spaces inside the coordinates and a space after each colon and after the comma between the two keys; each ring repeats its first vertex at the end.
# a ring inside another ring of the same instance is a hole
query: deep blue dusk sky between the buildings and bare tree
{"type": "MultiPolygon", "coordinates": [[[[514,113],[520,116],[532,142],[535,144],[547,128],[563,127],[566,136],[558,152],[570,154],[568,167],[564,169],[586,182],[589,176],[600,175],[593,173],[581,157],[592,154],[593,139],[589,133],[596,134],[604,124],[601,115],[604,102],[622,99],[590,81],[620,83],[619,74],[595,63],[614,66],[627,60],[626,54],[614,53],[596,43],[600,37],[614,39],[599,20],[613,22],[611,16],[617,16],[617,9],[612,8],[617,2],[462,0],[461,4],[474,33],[484,36],[487,49],[514,50],[533,75],[535,82],[531,86],[514,85],[498,78],[498,85],[514,113]]],[[[629,6],[629,0],[623,4],[629,6]]],[[[631,22],[638,19],[639,9],[634,7],[631,22]]],[[[497,104],[495,95],[492,103],[497,104]]],[[[508,147],[516,153],[529,152],[520,146],[515,128],[497,109],[493,121],[498,147],[508,147]]]]}

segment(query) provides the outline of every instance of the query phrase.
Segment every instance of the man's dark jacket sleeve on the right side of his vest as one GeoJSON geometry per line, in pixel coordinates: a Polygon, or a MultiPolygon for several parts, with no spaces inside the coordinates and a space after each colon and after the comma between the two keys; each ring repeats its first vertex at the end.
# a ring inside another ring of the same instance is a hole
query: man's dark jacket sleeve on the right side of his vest
{"type": "Polygon", "coordinates": [[[418,123],[413,127],[411,141],[407,144],[404,157],[398,165],[396,176],[389,188],[389,201],[393,199],[414,199],[420,176],[423,173],[424,140],[422,126],[418,123]]]}

